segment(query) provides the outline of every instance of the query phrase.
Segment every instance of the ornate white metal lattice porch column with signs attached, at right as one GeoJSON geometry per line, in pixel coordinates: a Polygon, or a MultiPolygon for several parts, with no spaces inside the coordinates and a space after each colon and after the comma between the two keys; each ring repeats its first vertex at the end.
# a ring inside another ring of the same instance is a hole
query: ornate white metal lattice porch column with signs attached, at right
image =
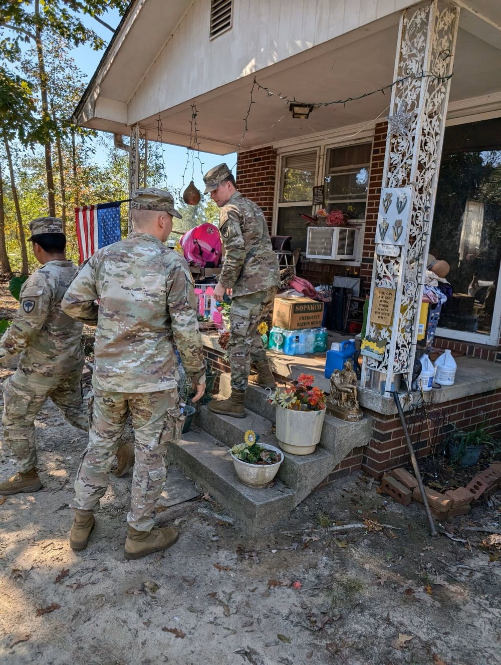
{"type": "MultiPolygon", "coordinates": [[[[369,318],[377,319],[375,289],[393,290],[395,300],[391,324],[368,323],[366,336],[387,340],[387,346],[381,362],[364,358],[362,372],[363,386],[368,370],[383,372],[387,393],[395,374],[410,386],[413,373],[458,18],[458,7],[430,0],[405,10],[399,27],[381,198],[384,188],[411,187],[413,208],[403,245],[386,253],[376,245],[369,318]]],[[[380,205],[383,210],[383,200],[380,205]]]]}

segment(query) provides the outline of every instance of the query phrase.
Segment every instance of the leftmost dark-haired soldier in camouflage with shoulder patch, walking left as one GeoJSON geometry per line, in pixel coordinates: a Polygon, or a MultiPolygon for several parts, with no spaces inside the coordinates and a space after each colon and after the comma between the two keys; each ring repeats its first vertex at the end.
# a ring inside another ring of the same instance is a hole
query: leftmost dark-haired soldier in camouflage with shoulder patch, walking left
{"type": "Polygon", "coordinates": [[[69,423],[88,430],[81,388],[82,324],[61,310],[61,299],[77,266],[65,257],[61,219],[33,219],[29,230],[33,253],[43,267],[23,284],[19,310],[0,340],[1,357],[21,354],[15,374],[3,386],[3,436],[17,473],[0,483],[0,494],[42,487],[36,468],[34,422],[48,397],[69,423]]]}

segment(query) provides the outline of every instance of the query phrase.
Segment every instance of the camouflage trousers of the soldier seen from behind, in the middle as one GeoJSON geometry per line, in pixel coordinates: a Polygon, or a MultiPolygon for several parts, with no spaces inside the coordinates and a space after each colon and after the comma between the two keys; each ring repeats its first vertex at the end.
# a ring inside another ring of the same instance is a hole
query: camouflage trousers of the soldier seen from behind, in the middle
{"type": "Polygon", "coordinates": [[[98,507],[130,413],[136,439],[127,521],[138,531],[151,531],[155,505],[166,479],[167,446],[180,439],[184,422],[178,390],[127,393],[94,388],[93,393],[89,400],[88,447],[77,473],[71,507],[92,511],[98,507]]]}

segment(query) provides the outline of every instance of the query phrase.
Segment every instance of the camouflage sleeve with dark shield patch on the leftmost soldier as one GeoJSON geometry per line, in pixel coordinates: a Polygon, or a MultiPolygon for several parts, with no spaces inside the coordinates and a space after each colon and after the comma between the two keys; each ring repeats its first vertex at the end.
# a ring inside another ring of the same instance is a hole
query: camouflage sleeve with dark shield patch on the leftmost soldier
{"type": "Polygon", "coordinates": [[[50,283],[41,273],[33,273],[23,284],[19,295],[19,309],[3,334],[0,346],[11,354],[25,350],[47,321],[53,300],[54,293],[50,283]]]}

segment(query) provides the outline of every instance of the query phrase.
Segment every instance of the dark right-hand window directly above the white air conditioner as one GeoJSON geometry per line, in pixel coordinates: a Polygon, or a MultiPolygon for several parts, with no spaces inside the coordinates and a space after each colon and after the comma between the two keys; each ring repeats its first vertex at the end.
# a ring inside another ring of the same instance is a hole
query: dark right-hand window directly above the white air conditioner
{"type": "Polygon", "coordinates": [[[365,220],[369,190],[370,143],[327,150],[325,207],[341,210],[350,219],[365,220]]]}

